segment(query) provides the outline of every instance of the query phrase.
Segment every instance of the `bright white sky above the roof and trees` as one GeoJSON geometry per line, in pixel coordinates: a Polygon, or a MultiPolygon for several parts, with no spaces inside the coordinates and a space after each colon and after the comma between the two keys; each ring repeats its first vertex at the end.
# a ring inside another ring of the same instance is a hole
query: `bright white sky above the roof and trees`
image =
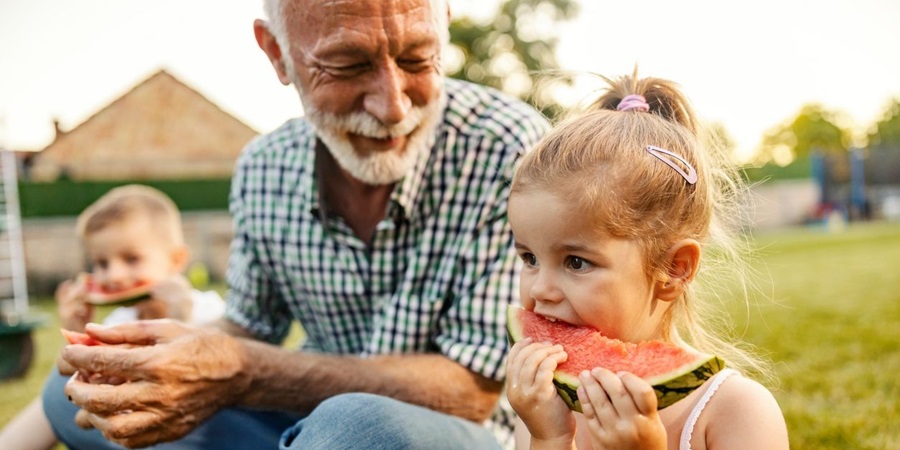
{"type": "MultiPolygon", "coordinates": [[[[488,17],[499,0],[450,0],[488,17]]],[[[302,114],[253,38],[261,0],[0,0],[0,146],[38,150],[165,69],[259,132],[302,114]]],[[[857,136],[900,98],[896,0],[581,0],[564,70],[678,82],[741,154],[808,103],[857,136]]],[[[570,99],[599,85],[579,83],[570,99]]]]}

